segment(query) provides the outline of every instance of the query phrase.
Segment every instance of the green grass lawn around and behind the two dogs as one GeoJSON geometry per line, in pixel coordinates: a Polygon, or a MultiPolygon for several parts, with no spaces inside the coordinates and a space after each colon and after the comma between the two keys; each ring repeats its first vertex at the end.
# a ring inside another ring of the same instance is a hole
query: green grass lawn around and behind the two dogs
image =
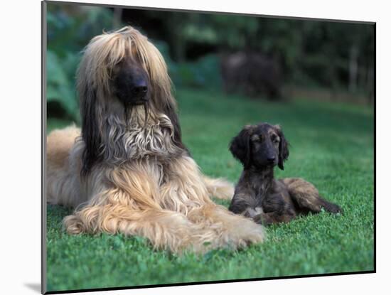
{"type": "MultiPolygon", "coordinates": [[[[67,235],[61,221],[71,210],[48,205],[48,291],[374,269],[370,109],[311,100],[273,103],[199,90],[178,90],[176,98],[184,142],[204,173],[237,181],[242,167],[227,149],[232,136],[245,124],[279,123],[291,156],[277,176],[306,178],[344,214],[309,215],[267,227],[267,241],[245,250],[177,256],[152,250],[142,237],[67,235]]],[[[48,131],[65,124],[49,120],[48,131]]]]}

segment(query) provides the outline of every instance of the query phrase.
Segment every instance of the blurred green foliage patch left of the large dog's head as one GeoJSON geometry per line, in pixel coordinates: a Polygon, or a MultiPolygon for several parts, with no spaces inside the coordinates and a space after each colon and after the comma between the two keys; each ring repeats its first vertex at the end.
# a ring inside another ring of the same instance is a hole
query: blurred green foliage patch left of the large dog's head
{"type": "Polygon", "coordinates": [[[112,11],[48,4],[47,28],[48,114],[60,113],[60,117],[78,120],[75,73],[81,51],[103,28],[112,29],[112,11]]]}

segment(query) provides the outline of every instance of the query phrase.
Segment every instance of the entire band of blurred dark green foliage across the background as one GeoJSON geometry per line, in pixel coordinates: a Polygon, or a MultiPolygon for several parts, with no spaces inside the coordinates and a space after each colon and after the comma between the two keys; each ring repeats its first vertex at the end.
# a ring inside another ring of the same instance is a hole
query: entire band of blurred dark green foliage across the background
{"type": "Polygon", "coordinates": [[[109,9],[48,2],[48,115],[78,121],[75,72],[93,36],[136,26],[161,50],[176,87],[222,89],[220,57],[237,50],[277,60],[285,85],[373,97],[374,30],[360,23],[109,9]]]}

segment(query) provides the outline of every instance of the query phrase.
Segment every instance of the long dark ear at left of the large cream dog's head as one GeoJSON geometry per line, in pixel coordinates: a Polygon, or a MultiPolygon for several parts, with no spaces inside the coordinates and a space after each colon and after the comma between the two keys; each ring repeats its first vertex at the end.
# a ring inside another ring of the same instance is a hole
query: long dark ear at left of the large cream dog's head
{"type": "Polygon", "coordinates": [[[85,87],[80,93],[80,113],[82,118],[82,139],[85,150],[82,154],[82,176],[86,176],[98,159],[100,144],[100,122],[97,119],[97,91],[95,87],[85,87]]]}

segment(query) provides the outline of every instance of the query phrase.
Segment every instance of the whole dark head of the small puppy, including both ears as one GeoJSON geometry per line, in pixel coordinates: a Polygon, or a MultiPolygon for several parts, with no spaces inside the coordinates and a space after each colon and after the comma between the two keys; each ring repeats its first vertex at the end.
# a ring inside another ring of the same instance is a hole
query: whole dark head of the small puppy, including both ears
{"type": "Polygon", "coordinates": [[[235,136],[230,151],[245,168],[274,167],[284,169],[289,156],[288,143],[278,125],[261,123],[248,125],[235,136]]]}

